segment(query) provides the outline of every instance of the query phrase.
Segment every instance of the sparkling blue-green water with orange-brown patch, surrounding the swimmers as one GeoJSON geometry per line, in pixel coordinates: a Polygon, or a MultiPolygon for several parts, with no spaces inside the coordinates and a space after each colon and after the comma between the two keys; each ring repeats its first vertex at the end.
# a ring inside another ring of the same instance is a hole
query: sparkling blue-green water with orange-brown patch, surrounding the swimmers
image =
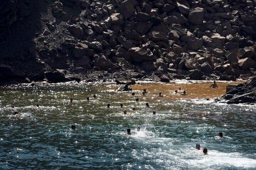
{"type": "Polygon", "coordinates": [[[256,169],[255,105],[214,103],[226,85],[141,83],[134,97],[112,84],[1,87],[0,169],[256,169]],[[178,87],[188,95],[174,94],[178,87]]]}

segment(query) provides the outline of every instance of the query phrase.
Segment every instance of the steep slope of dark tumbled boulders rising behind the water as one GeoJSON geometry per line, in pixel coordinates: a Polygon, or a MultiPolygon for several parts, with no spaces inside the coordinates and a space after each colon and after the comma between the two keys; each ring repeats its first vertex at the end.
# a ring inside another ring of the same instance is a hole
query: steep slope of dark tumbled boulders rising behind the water
{"type": "Polygon", "coordinates": [[[0,19],[9,30],[0,42],[7,81],[56,69],[160,81],[255,74],[255,0],[8,2],[0,19]]]}

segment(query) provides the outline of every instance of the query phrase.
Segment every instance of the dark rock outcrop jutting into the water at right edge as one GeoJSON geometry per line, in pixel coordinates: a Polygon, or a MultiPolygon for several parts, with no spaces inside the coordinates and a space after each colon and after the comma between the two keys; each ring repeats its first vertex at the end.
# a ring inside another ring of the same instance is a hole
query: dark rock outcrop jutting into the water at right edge
{"type": "Polygon", "coordinates": [[[256,103],[256,77],[246,83],[238,84],[216,101],[227,104],[256,103]]]}

